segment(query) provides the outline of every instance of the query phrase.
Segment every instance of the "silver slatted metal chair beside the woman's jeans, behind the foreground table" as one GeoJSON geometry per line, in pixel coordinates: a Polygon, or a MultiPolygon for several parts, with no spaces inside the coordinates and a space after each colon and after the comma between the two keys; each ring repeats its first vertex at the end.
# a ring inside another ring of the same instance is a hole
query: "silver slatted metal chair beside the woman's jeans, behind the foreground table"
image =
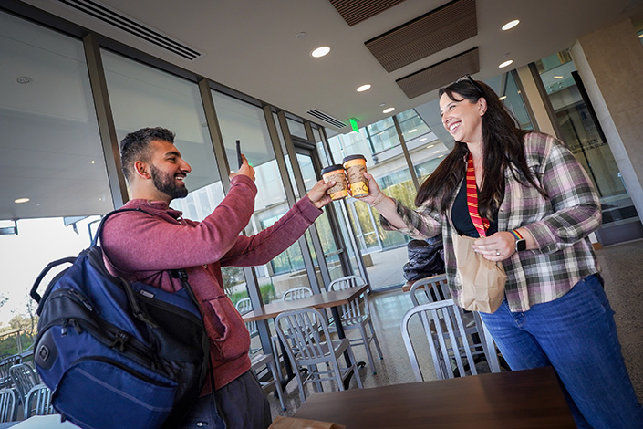
{"type": "Polygon", "coordinates": [[[453,299],[444,299],[414,307],[407,311],[402,319],[402,339],[409,354],[413,374],[418,382],[423,381],[424,378],[409,333],[409,321],[415,315],[420,316],[438,379],[464,376],[467,373],[477,374],[473,355],[481,353],[484,354],[490,370],[500,372],[491,335],[482,325],[482,330],[479,331],[482,351],[479,351],[466,333],[461,309],[455,305],[453,299]],[[431,327],[434,330],[431,330],[431,327]],[[455,363],[455,368],[452,362],[455,363]]]}

